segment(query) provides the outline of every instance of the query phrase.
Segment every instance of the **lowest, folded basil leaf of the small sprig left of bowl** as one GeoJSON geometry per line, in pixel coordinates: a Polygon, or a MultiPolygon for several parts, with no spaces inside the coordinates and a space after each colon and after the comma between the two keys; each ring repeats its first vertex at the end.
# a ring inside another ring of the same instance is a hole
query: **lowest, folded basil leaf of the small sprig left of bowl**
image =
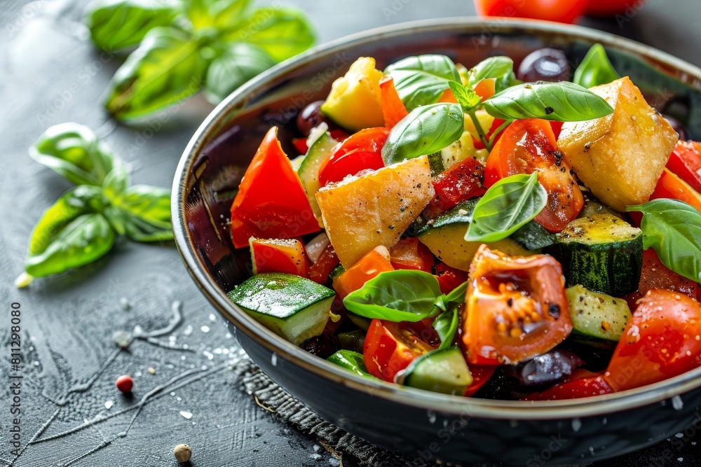
{"type": "Polygon", "coordinates": [[[29,239],[25,271],[48,276],[92,263],[114,244],[114,230],[100,214],[102,193],[78,186],[44,211],[29,239]]]}

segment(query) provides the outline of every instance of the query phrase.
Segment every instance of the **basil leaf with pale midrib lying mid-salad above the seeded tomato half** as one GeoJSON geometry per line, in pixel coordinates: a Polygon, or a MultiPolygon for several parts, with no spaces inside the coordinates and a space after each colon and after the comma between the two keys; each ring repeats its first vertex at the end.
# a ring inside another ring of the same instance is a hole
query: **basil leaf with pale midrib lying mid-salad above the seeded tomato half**
{"type": "Polygon", "coordinates": [[[494,183],[477,202],[465,233],[467,242],[497,242],[535,218],[547,204],[538,172],[516,174],[494,183]]]}

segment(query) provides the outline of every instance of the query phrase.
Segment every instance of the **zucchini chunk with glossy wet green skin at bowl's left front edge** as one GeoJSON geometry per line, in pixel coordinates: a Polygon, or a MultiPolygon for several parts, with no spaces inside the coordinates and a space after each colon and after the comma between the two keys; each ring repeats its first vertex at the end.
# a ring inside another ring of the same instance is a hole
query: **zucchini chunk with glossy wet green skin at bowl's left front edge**
{"type": "Polygon", "coordinates": [[[336,293],[294,274],[264,272],[226,295],[273,333],[299,345],[323,332],[336,293]]]}

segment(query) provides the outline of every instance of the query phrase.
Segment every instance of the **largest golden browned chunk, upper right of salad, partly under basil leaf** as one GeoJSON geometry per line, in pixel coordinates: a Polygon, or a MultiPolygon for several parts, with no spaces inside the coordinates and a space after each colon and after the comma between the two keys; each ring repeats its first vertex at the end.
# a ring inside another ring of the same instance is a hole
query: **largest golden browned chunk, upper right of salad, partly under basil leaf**
{"type": "Polygon", "coordinates": [[[647,202],[679,135],[626,76],[590,89],[611,115],[562,125],[557,146],[592,193],[616,211],[647,202]]]}

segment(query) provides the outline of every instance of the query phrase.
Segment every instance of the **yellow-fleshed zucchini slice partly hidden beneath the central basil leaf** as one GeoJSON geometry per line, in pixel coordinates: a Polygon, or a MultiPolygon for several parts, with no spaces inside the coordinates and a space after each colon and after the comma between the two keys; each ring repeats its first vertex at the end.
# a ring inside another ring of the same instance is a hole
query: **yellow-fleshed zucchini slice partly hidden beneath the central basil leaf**
{"type": "MultiPolygon", "coordinates": [[[[468,231],[472,212],[478,200],[468,200],[459,203],[456,207],[445,211],[427,223],[416,234],[421,243],[441,261],[456,269],[468,271],[472,258],[477,253],[479,245],[483,242],[466,242],[465,232],[468,231]]],[[[532,254],[514,239],[506,238],[498,242],[487,244],[490,249],[496,249],[503,253],[515,256],[527,256],[532,254]]]]}

